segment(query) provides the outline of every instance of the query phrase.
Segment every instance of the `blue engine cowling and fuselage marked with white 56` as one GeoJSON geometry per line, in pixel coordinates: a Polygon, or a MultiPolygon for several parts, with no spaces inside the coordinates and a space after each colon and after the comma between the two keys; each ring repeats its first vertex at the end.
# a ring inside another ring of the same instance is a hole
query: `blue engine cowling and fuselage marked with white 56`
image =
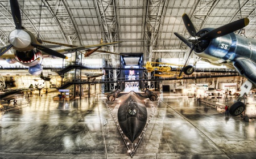
{"type": "MultiPolygon", "coordinates": [[[[201,37],[205,33],[212,31],[213,28],[201,29],[197,36],[201,37]]],[[[195,54],[201,58],[208,59],[213,63],[226,63],[230,61],[238,61],[237,58],[244,57],[251,61],[256,61],[253,56],[256,53],[256,42],[250,38],[237,36],[229,33],[221,37],[213,38],[211,40],[201,40],[195,46],[195,54]],[[216,61],[216,62],[214,62],[216,61]]],[[[242,59],[245,61],[245,59],[242,59]]],[[[229,63],[232,66],[232,63],[229,63]]]]}

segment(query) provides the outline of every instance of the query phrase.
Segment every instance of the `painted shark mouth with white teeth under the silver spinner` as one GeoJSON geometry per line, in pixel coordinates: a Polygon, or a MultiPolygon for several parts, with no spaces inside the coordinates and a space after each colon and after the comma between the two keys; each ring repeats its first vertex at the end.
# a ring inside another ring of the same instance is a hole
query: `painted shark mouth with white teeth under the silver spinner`
{"type": "Polygon", "coordinates": [[[41,51],[37,51],[36,49],[32,49],[30,51],[15,51],[14,53],[16,61],[24,66],[35,66],[40,62],[40,58],[42,57],[41,51]]]}

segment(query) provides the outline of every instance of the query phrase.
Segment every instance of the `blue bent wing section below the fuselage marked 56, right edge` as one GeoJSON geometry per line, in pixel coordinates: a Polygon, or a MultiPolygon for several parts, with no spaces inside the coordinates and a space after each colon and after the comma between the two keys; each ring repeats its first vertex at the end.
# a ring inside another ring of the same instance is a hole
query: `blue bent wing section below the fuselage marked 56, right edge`
{"type": "Polygon", "coordinates": [[[241,76],[245,76],[251,83],[256,84],[256,63],[248,58],[236,58],[234,67],[241,76]]]}

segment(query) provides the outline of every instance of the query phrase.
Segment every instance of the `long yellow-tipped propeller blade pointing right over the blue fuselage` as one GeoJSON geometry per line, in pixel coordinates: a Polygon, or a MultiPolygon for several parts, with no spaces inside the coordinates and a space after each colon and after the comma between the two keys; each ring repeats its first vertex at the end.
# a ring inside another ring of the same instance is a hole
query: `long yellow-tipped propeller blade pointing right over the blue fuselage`
{"type": "Polygon", "coordinates": [[[243,18],[237,21],[234,21],[232,23],[223,25],[221,27],[218,27],[216,29],[213,29],[212,31],[206,33],[202,37],[200,37],[198,40],[209,40],[217,37],[221,37],[224,35],[227,35],[229,33],[232,33],[234,31],[237,31],[238,29],[241,29],[249,24],[248,18],[243,18]]]}

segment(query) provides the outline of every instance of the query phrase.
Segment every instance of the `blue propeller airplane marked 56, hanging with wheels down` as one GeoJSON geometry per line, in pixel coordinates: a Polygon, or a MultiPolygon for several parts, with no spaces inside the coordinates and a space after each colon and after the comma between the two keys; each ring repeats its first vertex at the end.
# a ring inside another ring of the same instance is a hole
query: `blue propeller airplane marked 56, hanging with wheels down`
{"type": "MultiPolygon", "coordinates": [[[[195,51],[194,53],[204,61],[236,68],[241,76],[248,79],[240,87],[241,92],[237,102],[229,109],[231,115],[240,115],[245,110],[241,98],[245,93],[249,93],[252,84],[256,84],[256,40],[233,32],[249,24],[249,19],[243,18],[216,29],[204,28],[199,32],[196,32],[187,14],[183,14],[182,19],[191,37],[185,38],[179,33],[174,34],[191,48],[188,58],[195,51]]],[[[194,71],[193,66],[186,66],[188,58],[180,75],[182,72],[189,75],[194,71]]]]}

